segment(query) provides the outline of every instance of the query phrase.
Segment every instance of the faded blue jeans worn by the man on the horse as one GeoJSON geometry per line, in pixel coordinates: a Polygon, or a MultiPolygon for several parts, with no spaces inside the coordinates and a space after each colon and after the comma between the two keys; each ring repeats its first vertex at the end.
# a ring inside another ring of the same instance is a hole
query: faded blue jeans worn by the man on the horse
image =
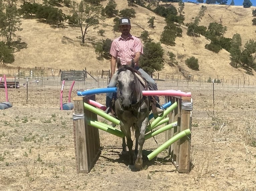
{"type": "MultiPolygon", "coordinates": [[[[147,81],[148,86],[152,90],[157,90],[157,85],[156,85],[155,81],[141,68],[139,68],[138,71],[141,73],[142,78],[144,78],[147,81]]],[[[113,80],[113,79],[115,79],[114,78],[115,75],[117,75],[117,73],[115,73],[113,75],[112,79],[109,82],[108,88],[116,87],[117,82],[113,80]]],[[[106,94],[106,107],[110,106],[112,99],[113,99],[113,93],[107,93],[106,94]]],[[[159,102],[159,97],[158,96],[156,96],[156,100],[159,102]]]]}

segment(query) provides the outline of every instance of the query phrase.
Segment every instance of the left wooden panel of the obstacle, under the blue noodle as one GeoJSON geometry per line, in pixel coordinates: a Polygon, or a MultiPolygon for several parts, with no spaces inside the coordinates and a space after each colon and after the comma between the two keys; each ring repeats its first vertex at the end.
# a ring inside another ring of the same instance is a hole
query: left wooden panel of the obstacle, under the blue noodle
{"type": "Polygon", "coordinates": [[[95,100],[95,95],[77,96],[73,99],[74,114],[84,117],[73,121],[77,173],[88,173],[101,152],[99,130],[87,124],[87,120],[97,121],[97,114],[84,108],[84,102],[88,103],[89,98],[95,100]]]}

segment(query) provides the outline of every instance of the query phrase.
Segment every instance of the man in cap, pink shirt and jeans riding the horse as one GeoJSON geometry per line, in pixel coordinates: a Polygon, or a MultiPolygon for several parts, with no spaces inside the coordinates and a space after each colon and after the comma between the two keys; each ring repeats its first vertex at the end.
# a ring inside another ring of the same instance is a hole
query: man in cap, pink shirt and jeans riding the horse
{"type": "MultiPolygon", "coordinates": [[[[146,80],[149,89],[157,90],[157,85],[155,81],[141,68],[139,68],[139,58],[140,55],[143,54],[143,45],[139,38],[132,36],[130,34],[131,30],[131,22],[129,18],[121,18],[119,20],[119,30],[121,31],[121,36],[115,39],[110,48],[111,54],[111,75],[110,82],[108,87],[116,87],[117,81],[114,80],[116,78],[112,78],[115,73],[117,59],[120,59],[121,65],[129,65],[131,61],[135,63],[135,70],[138,70],[141,76],[146,80]],[[111,80],[112,79],[112,80],[111,80]]],[[[109,113],[111,111],[111,103],[113,99],[113,93],[107,93],[106,97],[106,112],[109,113]]],[[[156,99],[156,112],[162,113],[163,110],[159,105],[159,98],[155,96],[156,99]]]]}

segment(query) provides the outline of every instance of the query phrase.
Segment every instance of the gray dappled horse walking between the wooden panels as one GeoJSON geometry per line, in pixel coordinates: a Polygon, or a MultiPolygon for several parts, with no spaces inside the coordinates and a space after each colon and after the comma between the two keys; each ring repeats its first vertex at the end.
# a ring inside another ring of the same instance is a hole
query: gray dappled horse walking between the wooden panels
{"type": "MultiPolygon", "coordinates": [[[[133,159],[133,140],[131,139],[131,127],[135,129],[135,153],[138,152],[135,160],[135,168],[142,167],[142,147],[145,141],[144,135],[148,125],[148,116],[150,108],[150,100],[147,96],[142,95],[145,87],[140,83],[134,74],[134,62],[130,65],[120,65],[117,60],[118,72],[113,76],[117,82],[117,95],[114,101],[114,112],[120,120],[121,131],[127,139],[129,149],[130,164],[134,164],[133,159]]],[[[125,139],[123,138],[123,151],[126,151],[125,139]]]]}

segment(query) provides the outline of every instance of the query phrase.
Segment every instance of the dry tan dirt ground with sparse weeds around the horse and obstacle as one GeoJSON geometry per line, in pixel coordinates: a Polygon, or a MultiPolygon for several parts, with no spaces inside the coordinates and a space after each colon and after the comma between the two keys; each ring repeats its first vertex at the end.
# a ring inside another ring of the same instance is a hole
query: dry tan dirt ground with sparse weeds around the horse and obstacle
{"type": "MultiPolygon", "coordinates": [[[[190,173],[178,173],[166,151],[148,161],[164,133],[145,141],[143,169],[131,171],[121,138],[100,130],[99,159],[90,173],[77,174],[72,111],[59,109],[60,91],[35,90],[30,98],[41,101],[26,104],[20,88],[9,91],[13,107],[0,110],[1,191],[256,190],[255,91],[218,87],[213,105],[211,84],[187,89],[158,82],[158,87],[192,93],[190,173]]],[[[105,96],[96,100],[104,104],[105,96]]]]}

